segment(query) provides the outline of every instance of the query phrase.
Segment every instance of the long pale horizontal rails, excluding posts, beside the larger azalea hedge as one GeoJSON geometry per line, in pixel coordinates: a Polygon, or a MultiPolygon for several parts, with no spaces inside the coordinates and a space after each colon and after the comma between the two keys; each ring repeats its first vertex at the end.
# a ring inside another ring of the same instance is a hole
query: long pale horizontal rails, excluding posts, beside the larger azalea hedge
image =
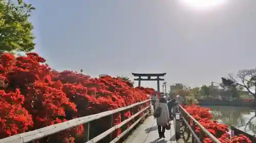
{"type": "MultiPolygon", "coordinates": [[[[105,116],[113,115],[115,113],[118,113],[118,112],[121,112],[121,111],[124,111],[124,110],[127,110],[127,109],[131,109],[131,108],[133,108],[137,105],[141,105],[141,104],[144,104],[144,103],[149,102],[149,101],[151,102],[151,99],[148,99],[146,101],[142,101],[142,102],[139,102],[139,103],[135,103],[135,104],[132,104],[132,105],[129,105],[129,106],[126,106],[126,107],[121,107],[121,108],[118,108],[118,109],[115,109],[115,110],[110,110],[110,111],[105,111],[105,112],[101,112],[101,113],[98,113],[98,114],[78,117],[78,118],[74,118],[73,120],[70,120],[70,121],[67,121],[67,122],[54,124],[54,125],[47,126],[47,127],[40,128],[40,129],[36,129],[36,130],[30,131],[30,132],[20,133],[20,134],[17,134],[17,135],[13,135],[13,136],[10,136],[10,137],[0,139],[0,143],[14,143],[14,142],[15,143],[25,143],[25,142],[34,141],[34,140],[44,138],[46,136],[58,133],[58,132],[63,131],[63,130],[67,130],[69,128],[72,128],[72,127],[75,127],[75,126],[78,126],[78,125],[89,124],[89,122],[91,122],[91,121],[97,120],[97,119],[105,117],[105,116]]],[[[104,135],[100,134],[100,135],[98,135],[97,137],[95,137],[91,140],[88,139],[87,141],[88,142],[97,142],[99,138],[103,138],[103,137],[109,135],[111,132],[113,132],[114,131],[113,128],[116,129],[119,126],[123,126],[125,123],[131,121],[133,118],[135,118],[137,115],[139,115],[140,113],[142,113],[146,109],[150,109],[150,106],[140,110],[138,113],[136,113],[133,116],[131,116],[130,118],[126,119],[125,121],[123,121],[121,123],[121,125],[120,124],[116,125],[116,126],[112,127],[111,129],[105,131],[104,133],[102,133],[104,135]],[[106,133],[106,132],[108,132],[108,133],[106,133]]],[[[143,116],[145,116],[145,115],[146,114],[144,114],[143,116]]],[[[139,120],[137,120],[137,121],[140,121],[141,119],[142,118],[139,118],[139,120]]],[[[137,121],[135,122],[136,124],[139,123],[137,121]]],[[[113,122],[113,121],[111,121],[111,122],[113,122]]],[[[135,125],[134,124],[133,124],[133,126],[136,125],[136,124],[135,125]]],[[[126,129],[126,130],[128,130],[128,129],[126,129]]],[[[131,130],[131,129],[129,128],[129,130],[131,130]]]]}

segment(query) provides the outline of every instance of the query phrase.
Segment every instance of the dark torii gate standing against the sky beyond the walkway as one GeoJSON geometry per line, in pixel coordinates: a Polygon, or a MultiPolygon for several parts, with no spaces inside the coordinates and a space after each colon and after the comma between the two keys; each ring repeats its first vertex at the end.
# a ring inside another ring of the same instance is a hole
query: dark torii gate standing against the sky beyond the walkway
{"type": "Polygon", "coordinates": [[[134,81],[139,81],[139,86],[141,81],[157,81],[157,91],[160,92],[160,82],[159,81],[164,81],[164,79],[161,79],[159,77],[164,77],[166,75],[166,73],[162,73],[162,74],[135,74],[132,73],[132,75],[134,77],[138,77],[137,79],[134,79],[134,81]],[[147,79],[143,79],[141,77],[147,77],[147,79]],[[152,79],[151,77],[157,77],[152,79]]]}

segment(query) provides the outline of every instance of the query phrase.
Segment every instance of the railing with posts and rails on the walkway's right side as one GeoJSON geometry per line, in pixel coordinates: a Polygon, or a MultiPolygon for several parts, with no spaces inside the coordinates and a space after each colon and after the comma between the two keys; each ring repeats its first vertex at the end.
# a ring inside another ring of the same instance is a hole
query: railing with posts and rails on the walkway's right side
{"type": "MultiPolygon", "coordinates": [[[[221,143],[214,135],[208,132],[193,116],[191,116],[183,107],[178,105],[177,110],[180,113],[182,125],[185,127],[187,133],[187,140],[192,135],[191,142],[202,143],[204,140],[204,136],[207,135],[212,141],[216,143],[221,143]],[[193,122],[193,125],[190,126],[190,123],[193,122]],[[200,134],[195,133],[195,128],[198,126],[200,128],[200,134]]],[[[177,114],[176,114],[177,116],[177,114]]],[[[176,130],[177,131],[177,130],[176,130]]]]}

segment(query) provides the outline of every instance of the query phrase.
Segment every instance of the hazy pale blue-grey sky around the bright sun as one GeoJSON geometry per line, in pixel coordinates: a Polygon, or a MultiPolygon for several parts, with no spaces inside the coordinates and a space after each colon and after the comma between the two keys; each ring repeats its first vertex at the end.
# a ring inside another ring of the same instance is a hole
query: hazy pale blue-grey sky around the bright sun
{"type": "Polygon", "coordinates": [[[94,77],[166,72],[168,86],[220,82],[256,60],[256,1],[226,1],[205,11],[178,0],[30,0],[35,51],[57,70],[94,77]]]}

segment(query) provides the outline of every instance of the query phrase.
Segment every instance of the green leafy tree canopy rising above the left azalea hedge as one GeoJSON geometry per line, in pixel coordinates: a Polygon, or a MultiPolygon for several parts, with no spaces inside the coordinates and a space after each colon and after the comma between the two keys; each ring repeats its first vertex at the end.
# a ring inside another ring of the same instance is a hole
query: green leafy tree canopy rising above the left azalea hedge
{"type": "Polygon", "coordinates": [[[33,10],[22,0],[0,0],[0,53],[34,49],[33,26],[29,22],[33,10]]]}

